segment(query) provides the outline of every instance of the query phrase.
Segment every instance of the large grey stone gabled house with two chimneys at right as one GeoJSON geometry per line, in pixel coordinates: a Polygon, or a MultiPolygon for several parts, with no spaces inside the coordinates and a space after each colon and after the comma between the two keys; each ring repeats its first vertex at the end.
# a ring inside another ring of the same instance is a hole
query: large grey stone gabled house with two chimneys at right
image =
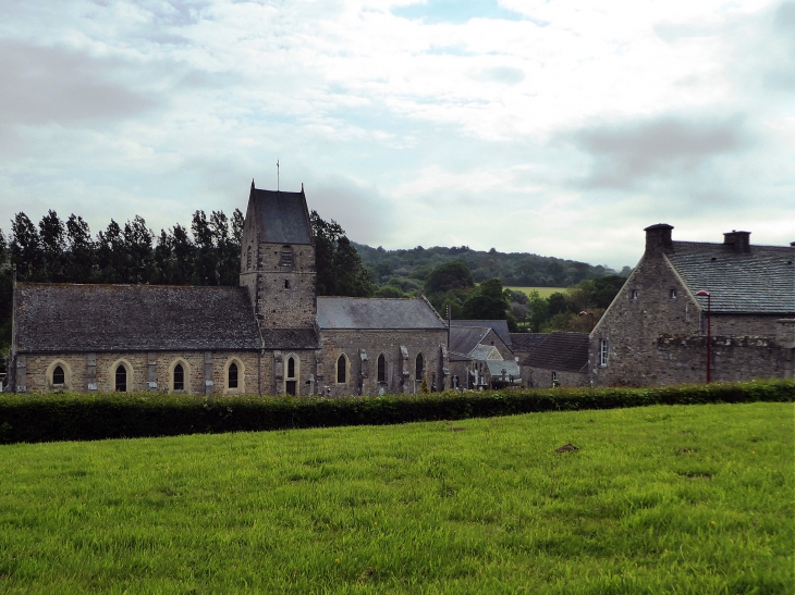
{"type": "Polygon", "coordinates": [[[590,333],[592,384],[702,383],[708,364],[718,382],[793,377],[795,247],[755,246],[749,232],[674,241],[672,230],[646,227],[640,261],[590,333]]]}

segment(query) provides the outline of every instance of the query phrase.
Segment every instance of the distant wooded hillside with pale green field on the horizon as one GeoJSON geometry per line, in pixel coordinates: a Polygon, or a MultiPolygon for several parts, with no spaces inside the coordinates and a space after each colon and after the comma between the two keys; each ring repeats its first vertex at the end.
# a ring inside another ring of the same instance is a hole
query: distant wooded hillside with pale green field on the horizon
{"type": "Polygon", "coordinates": [[[604,275],[628,276],[631,269],[615,271],[601,264],[541,257],[527,252],[498,252],[472,250],[467,246],[423,248],[411,250],[384,250],[365,244],[352,243],[375,283],[386,283],[392,277],[424,280],[433,268],[451,260],[464,262],[476,283],[498,277],[505,286],[567,287],[586,278],[604,275]]]}

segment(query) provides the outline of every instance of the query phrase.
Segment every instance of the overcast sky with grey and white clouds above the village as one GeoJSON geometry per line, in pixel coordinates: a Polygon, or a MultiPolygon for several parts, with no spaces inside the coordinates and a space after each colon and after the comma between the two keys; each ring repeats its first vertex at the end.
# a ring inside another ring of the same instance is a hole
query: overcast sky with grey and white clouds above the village
{"type": "Polygon", "coordinates": [[[795,1],[0,0],[0,227],[252,178],[384,248],[795,240],[795,1]]]}

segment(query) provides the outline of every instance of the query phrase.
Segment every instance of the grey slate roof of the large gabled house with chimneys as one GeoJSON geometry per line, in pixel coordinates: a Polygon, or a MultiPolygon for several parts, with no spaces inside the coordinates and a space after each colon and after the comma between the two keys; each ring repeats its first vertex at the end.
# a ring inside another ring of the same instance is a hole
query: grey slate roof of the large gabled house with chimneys
{"type": "MultiPolygon", "coordinates": [[[[717,313],[795,313],[795,248],[750,246],[735,251],[725,244],[674,241],[665,255],[695,294],[711,294],[717,313]]],[[[707,298],[697,297],[707,309],[707,298]]]]}

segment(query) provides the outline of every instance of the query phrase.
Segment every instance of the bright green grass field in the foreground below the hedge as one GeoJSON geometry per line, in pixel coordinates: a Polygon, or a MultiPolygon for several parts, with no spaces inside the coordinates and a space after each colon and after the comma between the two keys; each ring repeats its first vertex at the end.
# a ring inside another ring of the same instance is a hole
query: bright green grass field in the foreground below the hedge
{"type": "Polygon", "coordinates": [[[0,593],[792,593],[794,413],[1,446],[0,593]]]}

